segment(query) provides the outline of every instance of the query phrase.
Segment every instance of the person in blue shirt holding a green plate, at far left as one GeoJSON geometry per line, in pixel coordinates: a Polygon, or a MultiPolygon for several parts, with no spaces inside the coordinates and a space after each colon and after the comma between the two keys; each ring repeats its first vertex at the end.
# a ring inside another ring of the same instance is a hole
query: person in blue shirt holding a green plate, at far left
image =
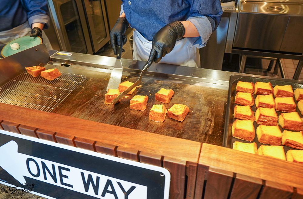
{"type": "Polygon", "coordinates": [[[0,50],[22,36],[41,37],[47,49],[53,49],[42,29],[48,29],[46,0],[0,0],[0,50]]]}

